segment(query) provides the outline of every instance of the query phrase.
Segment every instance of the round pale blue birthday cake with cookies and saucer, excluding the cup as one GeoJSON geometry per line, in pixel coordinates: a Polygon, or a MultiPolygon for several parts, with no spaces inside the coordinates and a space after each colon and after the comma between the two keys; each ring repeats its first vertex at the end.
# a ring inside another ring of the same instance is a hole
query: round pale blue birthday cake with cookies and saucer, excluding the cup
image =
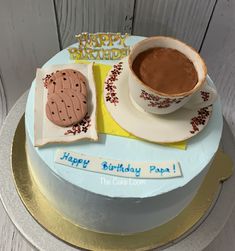
{"type": "MultiPolygon", "coordinates": [[[[143,39],[125,37],[125,46],[143,39]]],[[[70,57],[76,46],[51,58],[30,88],[30,172],[53,207],[83,228],[132,234],[160,226],[192,201],[210,168],[223,127],[220,101],[149,114],[128,94],[128,60],[117,60],[118,50],[116,60],[99,55],[81,64],[70,57]]],[[[171,103],[144,90],[141,99],[171,103]]]]}

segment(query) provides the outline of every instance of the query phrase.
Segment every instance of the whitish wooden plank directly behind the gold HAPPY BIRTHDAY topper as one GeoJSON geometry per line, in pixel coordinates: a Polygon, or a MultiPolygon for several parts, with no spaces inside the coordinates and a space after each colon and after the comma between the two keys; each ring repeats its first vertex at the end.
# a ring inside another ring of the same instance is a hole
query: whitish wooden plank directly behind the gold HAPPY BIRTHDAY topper
{"type": "Polygon", "coordinates": [[[131,33],[134,0],[55,0],[62,47],[81,32],[131,33]]]}

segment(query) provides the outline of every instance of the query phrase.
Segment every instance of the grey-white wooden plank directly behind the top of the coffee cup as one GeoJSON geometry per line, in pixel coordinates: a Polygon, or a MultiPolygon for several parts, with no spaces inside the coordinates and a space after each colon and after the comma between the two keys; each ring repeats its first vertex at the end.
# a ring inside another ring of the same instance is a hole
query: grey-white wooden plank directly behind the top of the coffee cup
{"type": "Polygon", "coordinates": [[[200,49],[215,0],[136,0],[134,35],[168,35],[200,49]]]}

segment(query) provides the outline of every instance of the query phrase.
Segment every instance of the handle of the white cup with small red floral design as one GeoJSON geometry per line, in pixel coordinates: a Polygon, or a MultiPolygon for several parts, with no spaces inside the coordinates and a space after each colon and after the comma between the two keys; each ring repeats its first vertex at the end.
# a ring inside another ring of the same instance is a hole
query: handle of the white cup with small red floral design
{"type": "Polygon", "coordinates": [[[218,94],[214,87],[210,86],[208,82],[204,85],[204,87],[196,92],[192,98],[184,105],[184,108],[187,109],[197,109],[207,107],[212,105],[217,99],[218,94]]]}

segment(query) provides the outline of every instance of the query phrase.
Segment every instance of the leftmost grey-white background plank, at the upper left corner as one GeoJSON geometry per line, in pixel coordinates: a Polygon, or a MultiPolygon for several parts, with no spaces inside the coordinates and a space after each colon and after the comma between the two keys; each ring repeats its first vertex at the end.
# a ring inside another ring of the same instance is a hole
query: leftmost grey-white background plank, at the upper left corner
{"type": "Polygon", "coordinates": [[[1,1],[0,31],[0,72],[11,108],[36,68],[59,50],[53,0],[1,1]]]}

